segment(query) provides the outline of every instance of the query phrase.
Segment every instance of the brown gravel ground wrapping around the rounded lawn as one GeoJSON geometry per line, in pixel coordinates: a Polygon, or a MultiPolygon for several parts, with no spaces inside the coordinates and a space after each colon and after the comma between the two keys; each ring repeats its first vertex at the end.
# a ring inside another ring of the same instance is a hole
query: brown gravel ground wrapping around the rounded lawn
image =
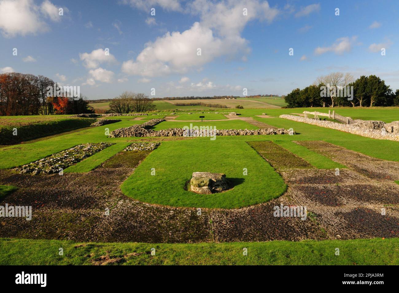
{"type": "MultiPolygon", "coordinates": [[[[381,181],[384,172],[392,177],[390,170],[396,166],[392,162],[380,162],[386,169],[378,177],[363,175],[364,166],[355,163],[335,175],[335,170],[316,169],[272,142],[256,143],[253,147],[284,178],[287,192],[241,209],[203,208],[201,215],[194,207],[152,205],[122,194],[120,184],[147,152],[120,153],[88,173],[32,176],[0,170],[0,184],[19,187],[0,205],[32,205],[33,209],[31,221],[0,218],[0,236],[150,243],[399,236],[399,185],[391,179],[381,181]],[[280,204],[304,205],[308,218],[274,217],[274,207],[280,204]],[[386,215],[381,215],[381,208],[386,215]]],[[[323,149],[320,142],[307,143],[323,149]]],[[[350,157],[344,160],[342,155],[348,150],[330,148],[349,165],[350,157]]],[[[371,168],[373,158],[354,155],[371,168]]]]}

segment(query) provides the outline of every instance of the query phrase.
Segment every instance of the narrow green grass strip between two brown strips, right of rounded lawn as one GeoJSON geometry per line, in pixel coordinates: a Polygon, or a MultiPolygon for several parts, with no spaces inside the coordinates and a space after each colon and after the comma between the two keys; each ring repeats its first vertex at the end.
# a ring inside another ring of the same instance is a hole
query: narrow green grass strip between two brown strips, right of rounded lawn
{"type": "Polygon", "coordinates": [[[301,157],[302,159],[310,163],[310,165],[318,169],[345,168],[344,165],[334,162],[332,159],[329,159],[324,155],[320,155],[315,151],[311,151],[310,149],[304,146],[300,146],[294,142],[275,140],[275,143],[284,147],[284,149],[290,151],[291,153],[294,153],[298,157],[301,157]]]}

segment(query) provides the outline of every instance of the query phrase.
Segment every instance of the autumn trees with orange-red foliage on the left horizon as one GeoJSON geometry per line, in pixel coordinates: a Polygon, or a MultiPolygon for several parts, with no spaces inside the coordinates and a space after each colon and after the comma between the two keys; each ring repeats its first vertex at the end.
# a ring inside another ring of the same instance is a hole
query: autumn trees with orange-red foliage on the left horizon
{"type": "Polygon", "coordinates": [[[0,74],[0,115],[54,115],[81,114],[93,112],[87,98],[69,97],[66,92],[48,95],[48,87],[60,88],[50,78],[33,74],[0,74]]]}

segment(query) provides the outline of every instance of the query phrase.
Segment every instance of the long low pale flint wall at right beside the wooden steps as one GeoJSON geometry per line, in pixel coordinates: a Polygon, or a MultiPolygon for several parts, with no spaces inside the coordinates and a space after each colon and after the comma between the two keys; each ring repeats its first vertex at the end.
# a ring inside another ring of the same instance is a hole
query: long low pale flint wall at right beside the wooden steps
{"type": "MultiPolygon", "coordinates": [[[[399,135],[395,133],[388,132],[386,130],[387,125],[389,126],[390,124],[385,124],[384,125],[384,130],[378,129],[379,126],[381,126],[378,123],[370,123],[367,121],[359,121],[357,120],[356,124],[340,124],[337,122],[332,122],[332,121],[325,121],[325,120],[314,120],[310,118],[305,118],[305,117],[299,117],[299,116],[294,116],[294,115],[287,115],[283,114],[280,115],[280,118],[284,119],[289,119],[289,120],[294,120],[297,122],[304,122],[307,124],[313,124],[321,127],[326,127],[326,128],[332,128],[344,132],[349,132],[352,134],[358,134],[360,136],[365,136],[368,138],[376,138],[379,140],[399,140],[399,135]],[[360,126],[359,126],[360,125],[360,126]],[[372,125],[373,128],[367,128],[365,125],[372,125]],[[376,128],[375,128],[376,127],[376,128]]],[[[394,122],[392,122],[394,123],[394,122]]]]}

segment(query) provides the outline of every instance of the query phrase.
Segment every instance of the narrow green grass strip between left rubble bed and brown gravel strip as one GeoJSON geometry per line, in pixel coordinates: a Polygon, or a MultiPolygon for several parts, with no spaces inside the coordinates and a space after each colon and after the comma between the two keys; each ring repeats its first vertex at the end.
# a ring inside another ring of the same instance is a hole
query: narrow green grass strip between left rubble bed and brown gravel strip
{"type": "Polygon", "coordinates": [[[102,151],[95,153],[91,157],[80,161],[79,163],[72,165],[64,170],[65,173],[84,173],[93,170],[109,159],[110,157],[116,155],[120,151],[122,151],[125,147],[130,145],[130,142],[122,142],[119,144],[114,144],[113,146],[109,146],[102,151]]]}

